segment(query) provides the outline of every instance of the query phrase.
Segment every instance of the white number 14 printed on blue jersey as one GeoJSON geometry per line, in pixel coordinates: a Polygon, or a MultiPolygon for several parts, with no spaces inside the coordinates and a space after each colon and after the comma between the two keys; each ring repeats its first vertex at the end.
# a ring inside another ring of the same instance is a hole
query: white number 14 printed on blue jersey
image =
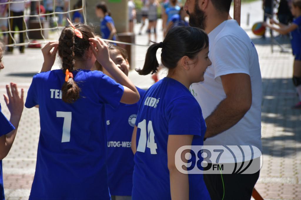
{"type": "Polygon", "coordinates": [[[141,129],[137,151],[144,153],[145,145],[146,145],[146,147],[151,149],[151,154],[157,154],[157,144],[155,143],[155,133],[154,133],[152,121],[148,122],[147,129],[146,129],[146,120],[143,120],[142,122],[138,123],[137,128],[141,129]],[[146,137],[146,133],[148,137],[146,137]]]}

